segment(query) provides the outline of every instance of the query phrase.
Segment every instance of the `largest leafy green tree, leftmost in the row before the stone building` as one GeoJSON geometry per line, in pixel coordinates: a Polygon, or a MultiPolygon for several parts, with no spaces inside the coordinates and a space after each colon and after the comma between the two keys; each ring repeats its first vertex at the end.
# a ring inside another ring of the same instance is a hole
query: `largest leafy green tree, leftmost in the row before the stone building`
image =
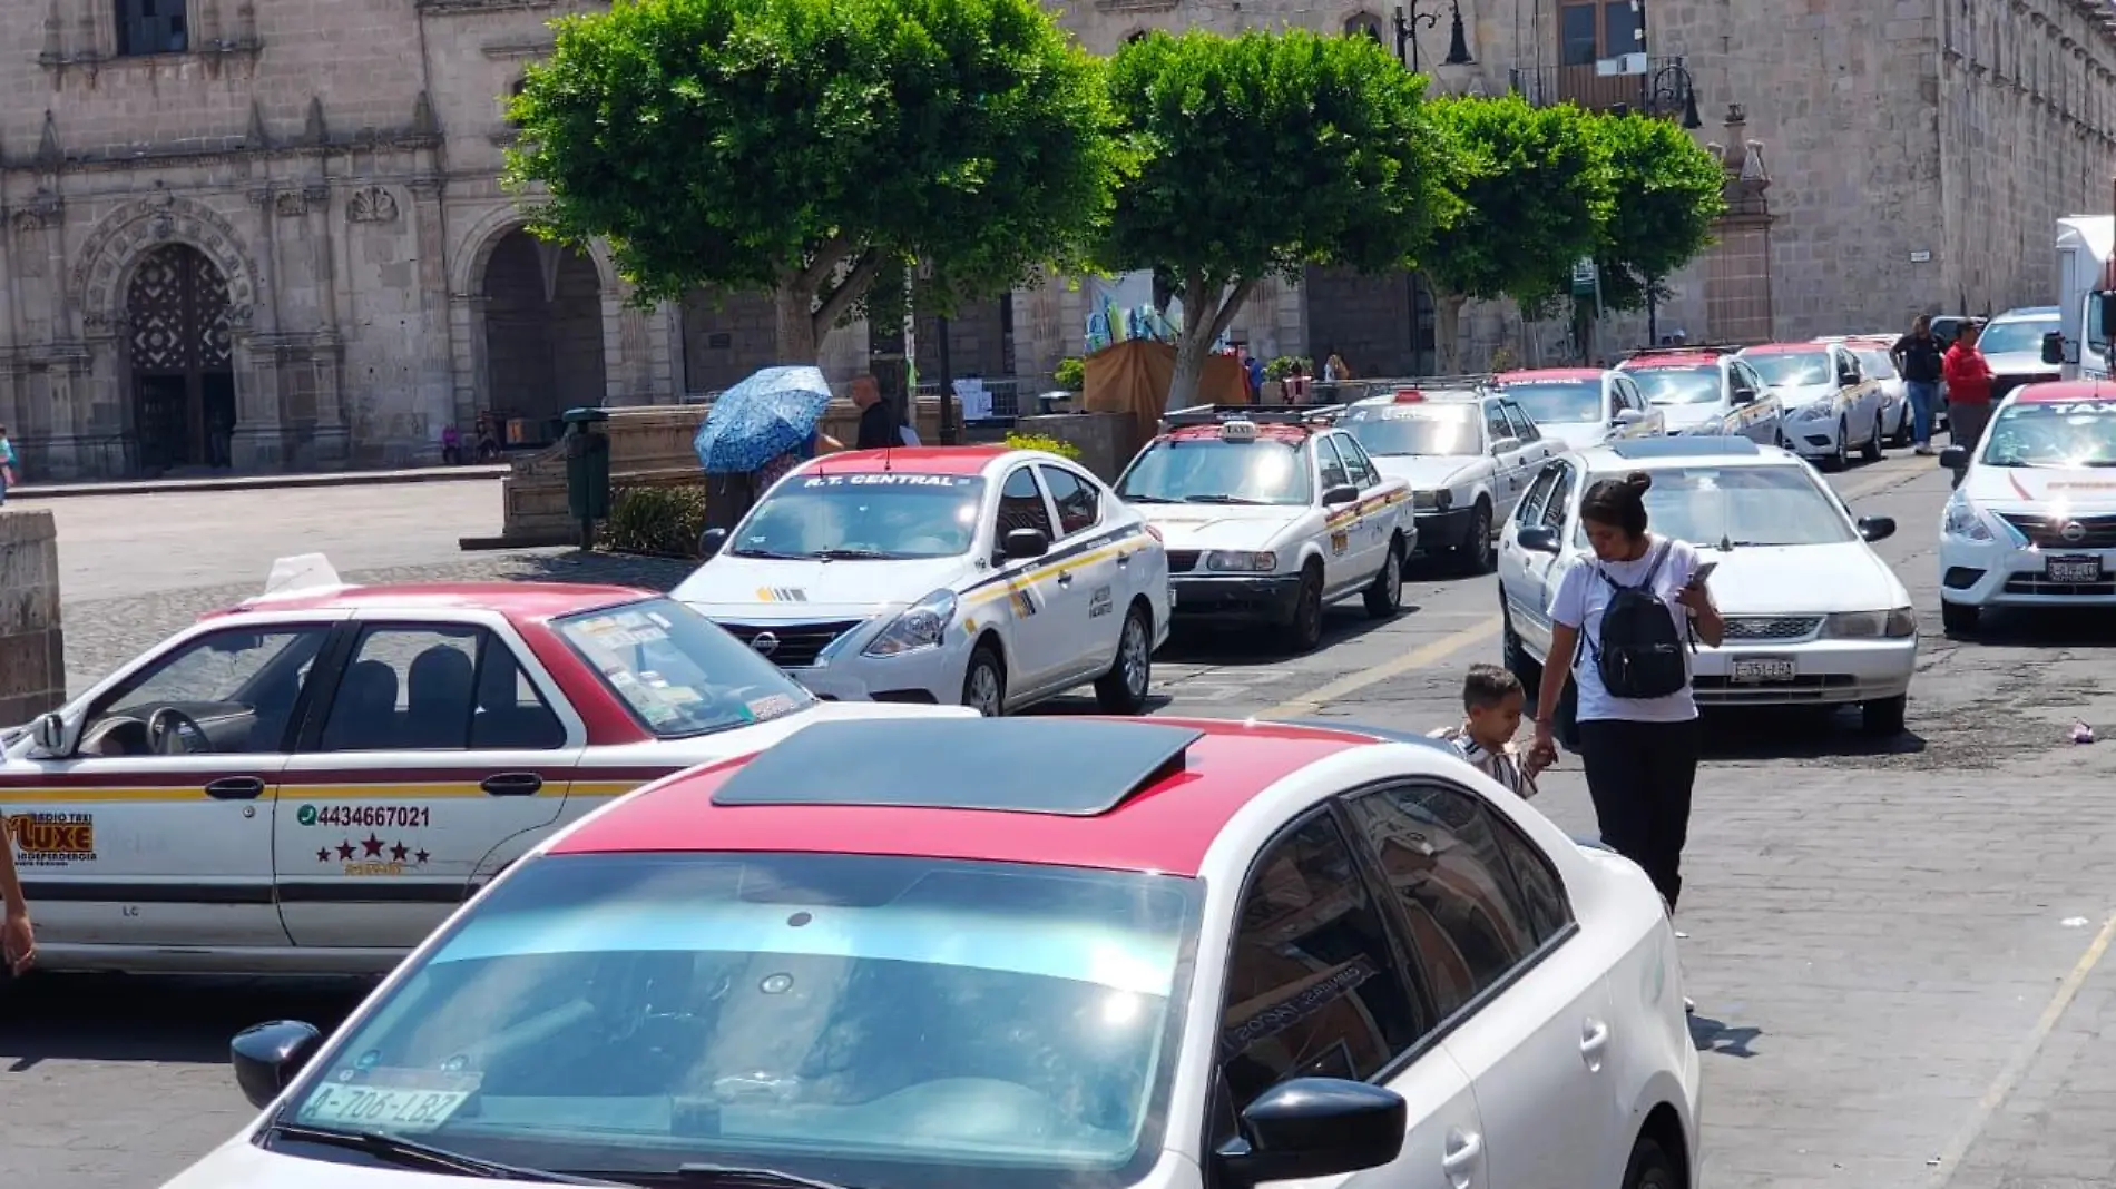
{"type": "Polygon", "coordinates": [[[1071,264],[1121,167],[1035,0],[618,0],[557,21],[510,116],[542,235],[605,237],[641,303],[774,292],[785,360],[908,258],[933,311],[1071,264]]]}

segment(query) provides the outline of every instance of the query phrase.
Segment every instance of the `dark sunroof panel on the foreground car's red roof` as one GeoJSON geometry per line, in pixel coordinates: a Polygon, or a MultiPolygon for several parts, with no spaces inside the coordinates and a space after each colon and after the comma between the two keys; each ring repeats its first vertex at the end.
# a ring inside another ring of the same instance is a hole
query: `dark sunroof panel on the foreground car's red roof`
{"type": "Polygon", "coordinates": [[[1096,719],[855,719],[802,728],[713,791],[717,806],[975,808],[1096,817],[1202,730],[1096,719]]]}

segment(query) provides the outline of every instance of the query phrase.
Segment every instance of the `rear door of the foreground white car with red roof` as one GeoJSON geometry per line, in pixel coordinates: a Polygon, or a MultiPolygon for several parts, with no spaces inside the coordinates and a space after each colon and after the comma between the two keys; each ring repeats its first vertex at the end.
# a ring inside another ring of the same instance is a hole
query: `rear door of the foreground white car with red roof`
{"type": "Polygon", "coordinates": [[[1602,956],[1570,922],[1538,920],[1498,831],[1511,823],[1437,779],[1350,798],[1390,889],[1445,1049],[1477,1092],[1492,1185],[1619,1185],[1629,1128],[1608,1073],[1602,956]]]}

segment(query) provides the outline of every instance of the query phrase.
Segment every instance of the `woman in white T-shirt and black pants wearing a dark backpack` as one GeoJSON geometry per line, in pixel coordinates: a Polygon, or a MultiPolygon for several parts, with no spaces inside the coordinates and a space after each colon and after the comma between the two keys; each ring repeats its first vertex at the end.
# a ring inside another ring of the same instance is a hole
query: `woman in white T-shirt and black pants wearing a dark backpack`
{"type": "Polygon", "coordinates": [[[1689,654],[1697,641],[1718,647],[1727,622],[1697,550],[1646,531],[1650,487],[1653,476],[1631,472],[1595,482],[1581,499],[1593,561],[1568,569],[1551,597],[1530,755],[1555,760],[1551,726],[1570,677],[1602,842],[1644,867],[1674,914],[1701,743],[1689,654]],[[1572,664],[1559,664],[1562,656],[1572,664]]]}

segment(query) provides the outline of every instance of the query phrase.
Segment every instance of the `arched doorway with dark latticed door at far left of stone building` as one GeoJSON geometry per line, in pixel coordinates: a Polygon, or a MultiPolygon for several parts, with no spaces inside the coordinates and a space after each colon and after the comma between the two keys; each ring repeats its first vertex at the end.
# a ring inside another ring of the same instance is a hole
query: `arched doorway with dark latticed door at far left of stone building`
{"type": "Polygon", "coordinates": [[[140,470],[229,465],[235,358],[229,279],[188,243],[165,243],[125,290],[131,427],[140,470]]]}

